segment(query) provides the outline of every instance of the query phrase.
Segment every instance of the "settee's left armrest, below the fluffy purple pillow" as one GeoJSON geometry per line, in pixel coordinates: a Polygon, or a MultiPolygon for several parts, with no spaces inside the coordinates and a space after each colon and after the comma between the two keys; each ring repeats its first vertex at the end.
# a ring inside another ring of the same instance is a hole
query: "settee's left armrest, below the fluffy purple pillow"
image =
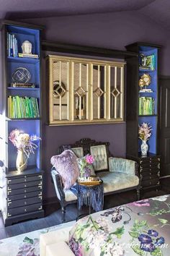
{"type": "Polygon", "coordinates": [[[65,193],[63,191],[63,184],[61,181],[61,176],[58,174],[58,171],[56,171],[55,167],[51,169],[51,176],[53,179],[54,187],[55,187],[55,192],[58,197],[58,200],[61,202],[65,201],[65,193]]]}

